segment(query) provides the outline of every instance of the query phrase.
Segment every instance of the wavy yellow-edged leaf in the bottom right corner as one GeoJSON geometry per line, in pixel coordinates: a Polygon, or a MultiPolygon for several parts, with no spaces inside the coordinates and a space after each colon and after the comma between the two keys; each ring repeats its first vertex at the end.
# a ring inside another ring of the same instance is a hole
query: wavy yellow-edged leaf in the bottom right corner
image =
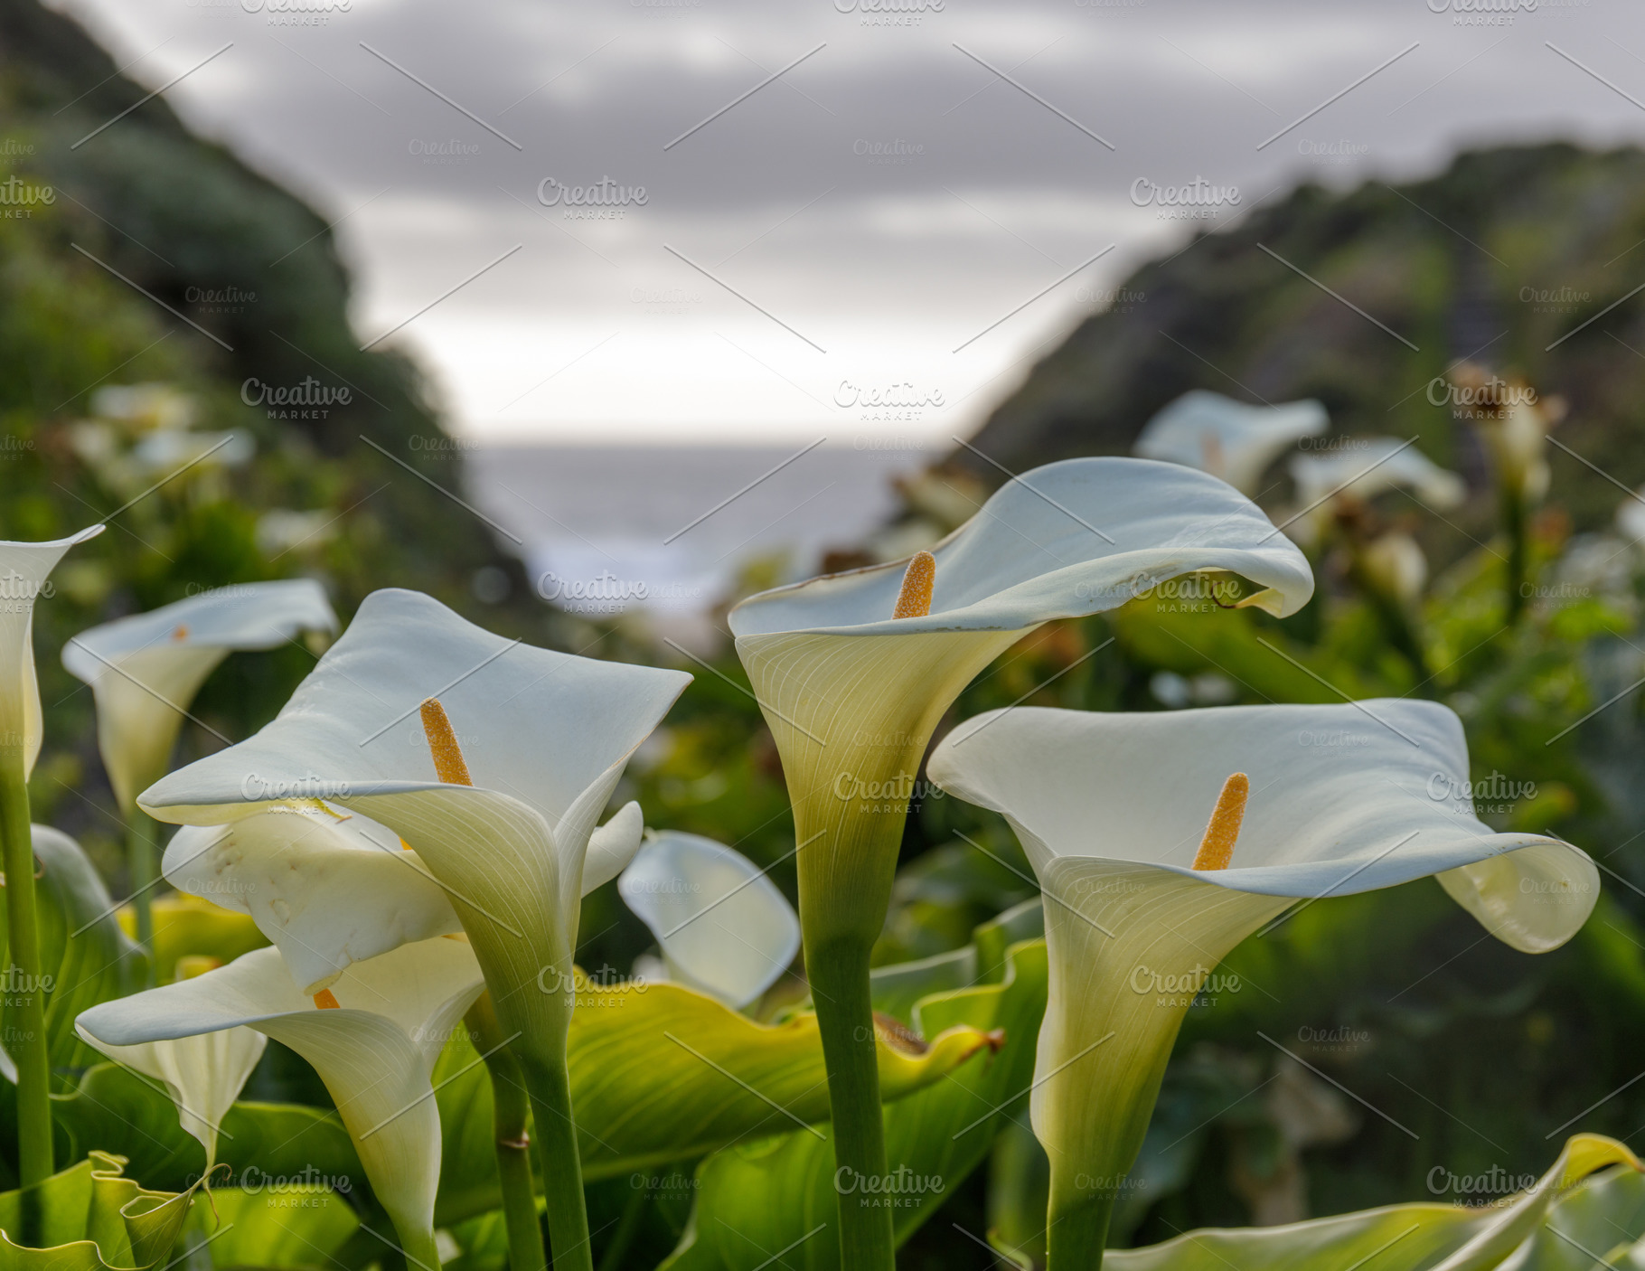
{"type": "MultiPolygon", "coordinates": [[[[1102,1264],[1105,1271],[1341,1271],[1375,1259],[1375,1271],[1490,1271],[1513,1256],[1515,1271],[1592,1266],[1578,1250],[1571,1250],[1576,1255],[1571,1259],[1553,1261],[1548,1253],[1553,1246],[1543,1243],[1543,1235],[1546,1223],[1564,1230],[1564,1205],[1582,1195],[1573,1194],[1573,1187],[1617,1164],[1630,1172],[1640,1169],[1633,1153],[1615,1139],[1576,1135],[1536,1185],[1508,1205],[1385,1205],[1286,1227],[1189,1232],[1142,1250],[1110,1250],[1102,1264]],[[1543,1261],[1520,1261],[1538,1250],[1543,1261]]],[[[1617,1197],[1637,1209],[1637,1190],[1619,1189],[1617,1197]]],[[[1627,1236],[1625,1230],[1612,1232],[1607,1241],[1597,1230],[1587,1230],[1606,1225],[1601,1217],[1609,1215],[1597,1213],[1602,1209],[1601,1197],[1571,1210],[1586,1222],[1584,1232],[1604,1245],[1599,1253],[1627,1236]]],[[[1553,1241],[1559,1243],[1558,1236],[1553,1241]]]]}

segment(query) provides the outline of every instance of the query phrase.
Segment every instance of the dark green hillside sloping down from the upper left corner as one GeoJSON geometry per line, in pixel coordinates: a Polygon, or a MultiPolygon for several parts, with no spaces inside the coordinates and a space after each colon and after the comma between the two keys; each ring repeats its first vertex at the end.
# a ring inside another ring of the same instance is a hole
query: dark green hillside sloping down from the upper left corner
{"type": "MultiPolygon", "coordinates": [[[[360,352],[322,217],[145,95],[67,18],[0,0],[0,538],[109,518],[36,625],[36,816],[94,850],[117,827],[94,802],[107,793],[90,694],[58,664],[84,626],[309,574],[344,618],[408,585],[512,635],[553,635],[492,531],[418,478],[459,490],[461,454],[429,444],[441,424],[411,362],[360,352]],[[138,385],[151,388],[118,391],[138,385]]],[[[196,714],[243,737],[311,666],[296,646],[234,658],[196,714]]],[[[191,728],[184,751],[209,743],[191,728]]]]}

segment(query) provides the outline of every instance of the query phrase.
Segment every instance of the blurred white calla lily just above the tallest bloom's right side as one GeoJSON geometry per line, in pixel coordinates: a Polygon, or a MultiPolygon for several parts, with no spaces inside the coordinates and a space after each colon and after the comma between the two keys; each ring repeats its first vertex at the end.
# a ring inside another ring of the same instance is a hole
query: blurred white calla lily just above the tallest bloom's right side
{"type": "Polygon", "coordinates": [[[1303,437],[1318,437],[1329,423],[1326,408],[1313,400],[1252,406],[1196,388],[1143,426],[1132,454],[1186,464],[1255,495],[1268,464],[1303,437]]]}

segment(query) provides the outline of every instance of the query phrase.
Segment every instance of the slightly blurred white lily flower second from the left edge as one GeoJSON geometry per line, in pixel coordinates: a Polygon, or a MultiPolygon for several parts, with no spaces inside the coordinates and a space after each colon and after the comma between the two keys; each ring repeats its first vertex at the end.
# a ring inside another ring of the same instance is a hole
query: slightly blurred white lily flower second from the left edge
{"type": "Polygon", "coordinates": [[[97,748],[127,814],[171,761],[183,712],[235,649],[280,648],[303,631],[336,631],[314,579],[250,582],[92,626],[63,646],[63,664],[97,699],[97,748]]]}

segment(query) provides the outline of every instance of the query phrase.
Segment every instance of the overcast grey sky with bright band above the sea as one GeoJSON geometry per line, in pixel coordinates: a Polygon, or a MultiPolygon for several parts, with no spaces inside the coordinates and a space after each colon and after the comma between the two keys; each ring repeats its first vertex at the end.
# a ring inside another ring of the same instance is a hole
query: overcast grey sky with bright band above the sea
{"type": "Polygon", "coordinates": [[[1645,140],[1638,0],[326,3],[63,7],[148,86],[232,44],[166,99],[337,225],[362,342],[405,324],[484,437],[946,436],[1300,179],[1645,140]],[[1138,206],[1196,178],[1239,204],[1138,206]]]}

